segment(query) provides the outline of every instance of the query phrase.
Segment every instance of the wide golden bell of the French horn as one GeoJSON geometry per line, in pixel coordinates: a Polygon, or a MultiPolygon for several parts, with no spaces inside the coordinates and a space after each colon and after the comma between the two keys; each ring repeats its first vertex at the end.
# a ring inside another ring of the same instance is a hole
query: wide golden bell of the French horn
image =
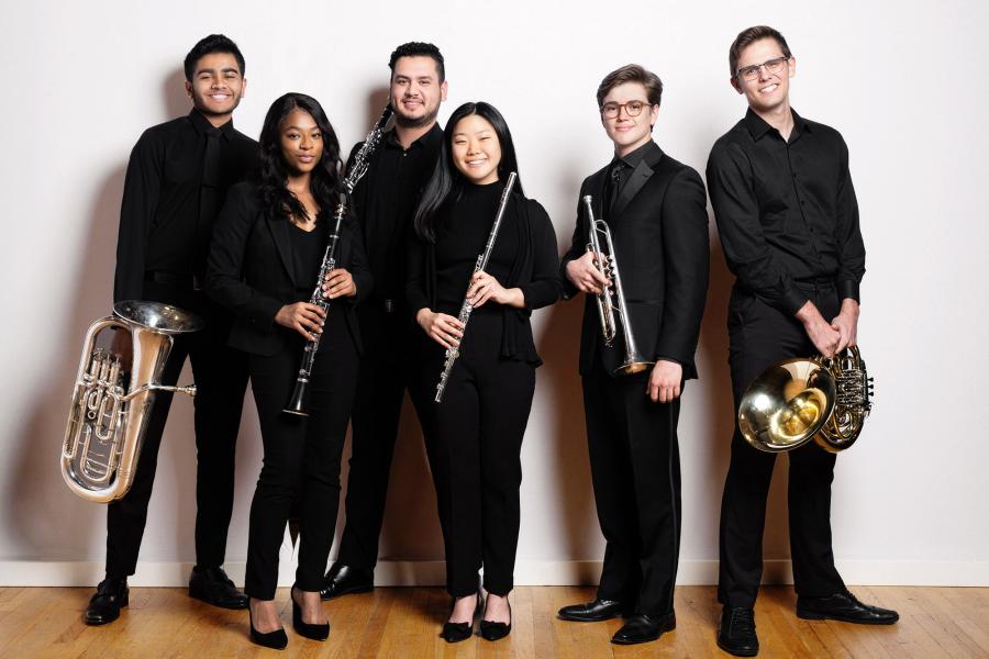
{"type": "Polygon", "coordinates": [[[835,404],[831,370],[811,359],[788,359],[748,386],[738,407],[738,429],[755,448],[780,453],[803,446],[831,418],[835,404]]]}

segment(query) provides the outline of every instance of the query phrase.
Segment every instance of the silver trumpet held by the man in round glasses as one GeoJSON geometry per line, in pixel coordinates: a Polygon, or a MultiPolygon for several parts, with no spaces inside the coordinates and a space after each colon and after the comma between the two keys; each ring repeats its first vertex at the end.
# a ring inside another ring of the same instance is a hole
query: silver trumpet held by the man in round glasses
{"type": "Polygon", "coordinates": [[[614,369],[614,372],[630,376],[644,371],[655,362],[646,359],[638,353],[635,336],[632,334],[632,324],[629,321],[629,305],[625,302],[624,289],[622,289],[622,276],[619,272],[618,257],[614,254],[614,242],[611,239],[611,230],[603,220],[594,220],[592,201],[593,199],[590,194],[585,196],[584,204],[587,206],[588,221],[587,233],[590,241],[587,249],[593,253],[601,273],[611,280],[611,286],[598,295],[601,334],[604,337],[604,345],[610,347],[614,345],[614,338],[618,336],[618,326],[621,325],[622,338],[625,344],[625,358],[614,369]],[[600,238],[598,237],[599,234],[600,238]],[[604,249],[601,248],[602,238],[604,249]]]}

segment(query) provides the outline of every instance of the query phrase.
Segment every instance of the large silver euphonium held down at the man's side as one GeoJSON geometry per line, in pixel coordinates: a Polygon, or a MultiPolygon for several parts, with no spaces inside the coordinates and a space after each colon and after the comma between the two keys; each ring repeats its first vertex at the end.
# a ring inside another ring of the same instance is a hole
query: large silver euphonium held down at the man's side
{"type": "Polygon", "coordinates": [[[198,316],[181,309],[140,301],[118,302],[113,315],[89,326],[62,448],[62,476],[73,492],[100,503],[127,493],[155,392],[196,394],[195,386],[160,382],[171,335],[201,326],[198,316]],[[96,347],[97,335],[108,328],[130,334],[130,364],[112,349],[96,347]]]}

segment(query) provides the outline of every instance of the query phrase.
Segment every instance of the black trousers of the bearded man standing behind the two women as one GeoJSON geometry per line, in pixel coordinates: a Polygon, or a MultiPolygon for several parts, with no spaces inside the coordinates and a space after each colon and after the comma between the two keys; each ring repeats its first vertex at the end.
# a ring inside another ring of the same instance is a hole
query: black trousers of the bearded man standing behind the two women
{"type": "Polygon", "coordinates": [[[411,376],[411,335],[416,328],[407,313],[388,313],[384,303],[369,302],[357,313],[364,354],[351,415],[347,522],[336,560],[373,570],[378,562],[402,398],[411,376]]]}

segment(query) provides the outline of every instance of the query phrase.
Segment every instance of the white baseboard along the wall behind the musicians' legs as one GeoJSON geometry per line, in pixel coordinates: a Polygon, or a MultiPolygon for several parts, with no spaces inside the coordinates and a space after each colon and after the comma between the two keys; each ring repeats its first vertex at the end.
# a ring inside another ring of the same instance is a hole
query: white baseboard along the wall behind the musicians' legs
{"type": "MultiPolygon", "coordinates": [[[[295,560],[282,556],[279,585],[290,585],[295,560]]],[[[191,563],[138,562],[131,585],[182,587],[191,563]]],[[[238,587],[244,585],[244,562],[224,568],[238,587]]],[[[863,561],[837,562],[848,585],[957,585],[989,587],[989,561],[863,561]]],[[[600,561],[519,560],[515,585],[592,585],[600,576],[600,561]]],[[[384,560],[375,570],[378,585],[443,585],[444,563],[438,560],[384,560]]],[[[0,561],[0,585],[92,587],[103,577],[100,562],[0,561]]],[[[718,561],[681,560],[678,585],[711,585],[718,582],[718,561]]],[[[792,583],[789,560],[766,561],[764,583],[792,583]]]]}

